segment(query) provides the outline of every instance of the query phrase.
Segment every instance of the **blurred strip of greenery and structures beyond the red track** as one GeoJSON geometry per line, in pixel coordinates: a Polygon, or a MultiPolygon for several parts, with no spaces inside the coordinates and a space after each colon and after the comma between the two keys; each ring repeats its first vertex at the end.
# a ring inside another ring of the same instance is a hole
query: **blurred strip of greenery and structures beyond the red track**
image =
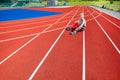
{"type": "Polygon", "coordinates": [[[13,7],[92,5],[120,12],[120,0],[0,0],[0,9],[13,7]]]}

